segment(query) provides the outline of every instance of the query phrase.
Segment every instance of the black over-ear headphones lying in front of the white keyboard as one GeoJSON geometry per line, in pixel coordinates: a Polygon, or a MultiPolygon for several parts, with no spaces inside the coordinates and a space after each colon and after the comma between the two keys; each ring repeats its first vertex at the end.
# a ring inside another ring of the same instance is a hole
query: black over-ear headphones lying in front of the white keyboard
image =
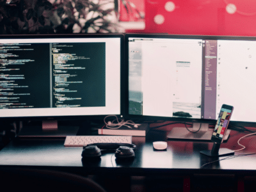
{"type": "Polygon", "coordinates": [[[115,150],[116,159],[133,159],[136,145],[129,143],[93,143],[83,147],[82,157],[86,159],[100,159],[101,152],[115,150]]]}

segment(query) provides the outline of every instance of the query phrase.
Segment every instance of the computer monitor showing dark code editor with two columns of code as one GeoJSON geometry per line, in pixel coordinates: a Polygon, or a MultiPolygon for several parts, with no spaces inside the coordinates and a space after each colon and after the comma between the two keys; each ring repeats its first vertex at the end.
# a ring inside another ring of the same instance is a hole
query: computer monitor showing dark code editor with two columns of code
{"type": "Polygon", "coordinates": [[[118,34],[0,36],[0,119],[120,116],[123,43],[118,34]]]}

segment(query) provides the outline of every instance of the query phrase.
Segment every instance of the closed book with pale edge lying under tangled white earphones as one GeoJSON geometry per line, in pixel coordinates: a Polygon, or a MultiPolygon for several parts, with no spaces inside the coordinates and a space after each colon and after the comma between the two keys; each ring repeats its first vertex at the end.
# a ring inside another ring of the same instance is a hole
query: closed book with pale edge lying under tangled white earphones
{"type": "Polygon", "coordinates": [[[146,136],[149,130],[148,124],[141,124],[138,128],[122,126],[118,129],[101,128],[98,129],[98,134],[105,135],[129,135],[129,136],[146,136]]]}

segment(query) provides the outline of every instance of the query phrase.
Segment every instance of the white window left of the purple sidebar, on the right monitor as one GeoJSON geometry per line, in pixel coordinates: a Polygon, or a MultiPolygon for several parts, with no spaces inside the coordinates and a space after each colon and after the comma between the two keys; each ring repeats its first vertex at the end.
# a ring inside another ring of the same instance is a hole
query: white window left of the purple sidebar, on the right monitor
{"type": "Polygon", "coordinates": [[[180,110],[200,118],[202,40],[143,40],[143,115],[173,116],[180,110]]]}

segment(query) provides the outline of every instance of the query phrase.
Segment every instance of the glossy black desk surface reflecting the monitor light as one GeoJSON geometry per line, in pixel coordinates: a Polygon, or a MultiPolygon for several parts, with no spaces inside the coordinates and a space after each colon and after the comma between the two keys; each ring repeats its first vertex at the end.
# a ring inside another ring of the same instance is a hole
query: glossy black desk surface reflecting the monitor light
{"type": "MultiPolygon", "coordinates": [[[[212,148],[212,143],[195,141],[166,140],[168,132],[152,130],[147,138],[133,137],[132,143],[137,145],[134,161],[116,162],[113,153],[103,154],[98,162],[81,161],[82,147],[64,147],[64,141],[56,140],[14,140],[0,151],[0,166],[38,166],[79,170],[88,174],[94,173],[128,173],[145,175],[147,173],[256,173],[256,155],[241,156],[223,161],[217,161],[201,168],[205,163],[217,160],[200,154],[200,150],[212,148]],[[168,148],[156,151],[152,141],[168,141],[168,148]]],[[[245,133],[231,131],[227,143],[222,143],[221,148],[238,149],[237,140],[245,133]]],[[[244,138],[241,141],[246,149],[237,154],[250,154],[256,152],[256,136],[244,138]]],[[[223,159],[225,157],[220,157],[223,159]]]]}

